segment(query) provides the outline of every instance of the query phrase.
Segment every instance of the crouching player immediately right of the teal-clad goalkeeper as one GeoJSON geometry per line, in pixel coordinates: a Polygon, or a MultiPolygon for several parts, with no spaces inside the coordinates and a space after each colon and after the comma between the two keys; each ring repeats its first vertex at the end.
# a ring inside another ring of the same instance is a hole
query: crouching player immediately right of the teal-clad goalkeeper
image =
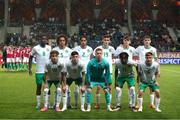
{"type": "Polygon", "coordinates": [[[126,52],[119,54],[119,59],[115,62],[115,86],[116,86],[116,109],[121,108],[121,96],[122,88],[125,82],[127,82],[130,99],[132,100],[132,110],[136,112],[135,109],[135,79],[133,66],[136,66],[134,61],[128,60],[129,55],[126,52]]]}

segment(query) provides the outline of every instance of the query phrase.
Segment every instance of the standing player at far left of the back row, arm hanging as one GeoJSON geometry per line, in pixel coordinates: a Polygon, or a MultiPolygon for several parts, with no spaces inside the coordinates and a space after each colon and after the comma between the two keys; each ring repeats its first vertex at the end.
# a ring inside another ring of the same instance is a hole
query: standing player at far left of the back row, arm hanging
{"type": "Polygon", "coordinates": [[[42,82],[44,80],[44,68],[46,62],[49,60],[49,54],[51,51],[51,46],[47,45],[48,38],[46,36],[42,36],[40,43],[33,47],[31,56],[29,58],[29,74],[32,75],[32,59],[36,57],[36,109],[40,108],[41,103],[41,88],[42,82]]]}

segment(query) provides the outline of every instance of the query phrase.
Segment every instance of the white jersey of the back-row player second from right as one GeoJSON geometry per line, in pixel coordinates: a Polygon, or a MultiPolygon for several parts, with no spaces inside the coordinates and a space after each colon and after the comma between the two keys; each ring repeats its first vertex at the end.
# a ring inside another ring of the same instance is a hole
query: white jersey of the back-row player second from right
{"type": "Polygon", "coordinates": [[[129,46],[129,48],[123,48],[123,46],[118,46],[116,51],[115,51],[115,54],[114,56],[118,57],[120,53],[122,52],[126,52],[128,55],[129,55],[129,60],[132,61],[133,60],[133,56],[135,56],[135,52],[136,52],[136,49],[132,46],[129,46]]]}

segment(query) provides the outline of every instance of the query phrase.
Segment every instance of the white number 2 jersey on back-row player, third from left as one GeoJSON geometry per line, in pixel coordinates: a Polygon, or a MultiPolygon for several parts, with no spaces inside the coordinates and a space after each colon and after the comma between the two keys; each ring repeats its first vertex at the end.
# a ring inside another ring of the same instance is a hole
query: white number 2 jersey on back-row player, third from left
{"type": "Polygon", "coordinates": [[[93,54],[93,49],[90,46],[86,46],[86,48],[81,48],[81,46],[77,46],[73,50],[79,53],[80,59],[85,64],[86,69],[88,62],[90,61],[90,57],[93,54]]]}

